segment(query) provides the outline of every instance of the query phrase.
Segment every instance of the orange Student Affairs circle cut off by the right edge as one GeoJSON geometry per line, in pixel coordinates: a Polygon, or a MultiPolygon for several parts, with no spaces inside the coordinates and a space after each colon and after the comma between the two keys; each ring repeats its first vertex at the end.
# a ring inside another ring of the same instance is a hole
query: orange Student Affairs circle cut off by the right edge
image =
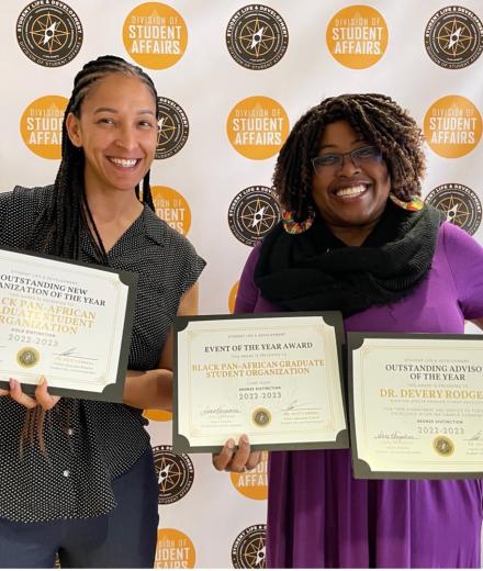
{"type": "Polygon", "coordinates": [[[435,101],[424,120],[427,144],[439,156],[458,158],[479,144],[482,134],[480,111],[462,96],[446,96],[435,101]]]}

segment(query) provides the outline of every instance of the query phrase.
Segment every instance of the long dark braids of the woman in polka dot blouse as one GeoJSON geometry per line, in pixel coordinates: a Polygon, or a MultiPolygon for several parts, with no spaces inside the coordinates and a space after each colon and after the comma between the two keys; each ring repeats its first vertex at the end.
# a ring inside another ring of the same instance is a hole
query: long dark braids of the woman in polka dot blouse
{"type": "MultiPolygon", "coordinates": [[[[52,199],[35,223],[30,249],[41,249],[55,256],[79,258],[79,236],[82,227],[93,229],[94,244],[100,261],[108,265],[108,258],[99,232],[86,200],[83,188],[85,156],[82,149],[72,145],[66,127],[69,113],[80,117],[82,101],[99,81],[112,74],[132,76],[143,81],[151,91],[155,102],[157,92],[150,77],[137,66],[117,56],[101,56],[86,64],[74,79],[74,90],[64,114],[61,128],[61,160],[54,182],[52,199]]],[[[157,105],[156,105],[157,109],[157,105]]],[[[156,111],[157,114],[157,111],[156,111]]],[[[158,116],[157,116],[158,119],[158,116]]],[[[149,171],[143,179],[143,201],[154,211],[149,186],[149,171]]],[[[139,184],[136,186],[139,199],[139,184]]]]}

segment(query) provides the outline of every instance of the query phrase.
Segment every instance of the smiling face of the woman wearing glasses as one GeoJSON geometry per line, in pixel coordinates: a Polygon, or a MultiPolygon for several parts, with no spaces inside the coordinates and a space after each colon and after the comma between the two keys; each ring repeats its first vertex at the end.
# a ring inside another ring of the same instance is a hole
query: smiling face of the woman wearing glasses
{"type": "MultiPolygon", "coordinates": [[[[328,124],[317,155],[350,153],[371,143],[346,121],[328,124]]],[[[381,217],[391,179],[382,159],[356,166],[346,155],[342,165],[325,166],[314,173],[312,195],[321,216],[333,233],[349,245],[360,245],[381,217]]]]}

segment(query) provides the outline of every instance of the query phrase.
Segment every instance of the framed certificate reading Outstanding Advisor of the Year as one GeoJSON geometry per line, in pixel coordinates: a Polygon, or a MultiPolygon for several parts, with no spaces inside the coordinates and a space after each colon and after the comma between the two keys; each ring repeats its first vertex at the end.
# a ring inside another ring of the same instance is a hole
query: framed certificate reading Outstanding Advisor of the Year
{"type": "Polygon", "coordinates": [[[356,478],[483,477],[483,335],[349,333],[356,478]]]}

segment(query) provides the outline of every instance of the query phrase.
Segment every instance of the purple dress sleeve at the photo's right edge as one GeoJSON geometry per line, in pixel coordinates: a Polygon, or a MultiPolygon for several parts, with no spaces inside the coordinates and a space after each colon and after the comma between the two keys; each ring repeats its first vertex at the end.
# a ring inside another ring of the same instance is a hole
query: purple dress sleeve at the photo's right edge
{"type": "Polygon", "coordinates": [[[441,229],[464,318],[483,317],[483,246],[453,224],[445,223],[441,229]]]}

